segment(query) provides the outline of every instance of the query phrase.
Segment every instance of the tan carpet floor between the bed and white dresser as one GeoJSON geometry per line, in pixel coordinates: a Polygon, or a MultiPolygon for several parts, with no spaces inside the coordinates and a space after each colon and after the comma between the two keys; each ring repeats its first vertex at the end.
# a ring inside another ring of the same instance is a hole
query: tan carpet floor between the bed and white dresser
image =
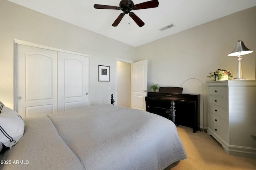
{"type": "Polygon", "coordinates": [[[184,126],[177,129],[188,158],[164,170],[256,170],[256,158],[227,154],[208,133],[193,133],[191,128],[184,126]]]}

